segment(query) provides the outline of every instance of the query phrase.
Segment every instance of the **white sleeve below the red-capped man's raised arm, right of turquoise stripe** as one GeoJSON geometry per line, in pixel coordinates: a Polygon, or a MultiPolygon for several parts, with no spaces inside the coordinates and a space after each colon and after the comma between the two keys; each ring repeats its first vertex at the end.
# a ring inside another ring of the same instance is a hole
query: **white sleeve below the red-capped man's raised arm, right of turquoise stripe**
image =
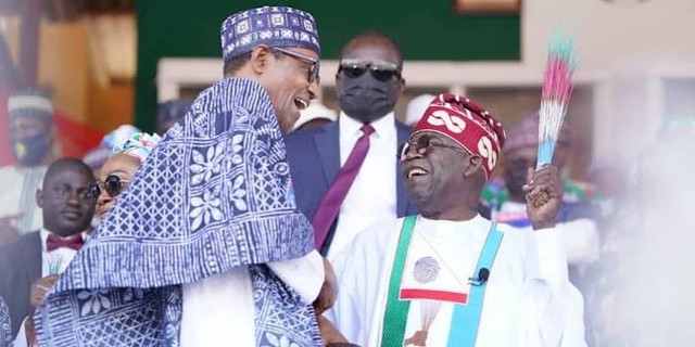
{"type": "Polygon", "coordinates": [[[528,346],[584,347],[583,300],[569,282],[563,233],[525,230],[528,346]]]}

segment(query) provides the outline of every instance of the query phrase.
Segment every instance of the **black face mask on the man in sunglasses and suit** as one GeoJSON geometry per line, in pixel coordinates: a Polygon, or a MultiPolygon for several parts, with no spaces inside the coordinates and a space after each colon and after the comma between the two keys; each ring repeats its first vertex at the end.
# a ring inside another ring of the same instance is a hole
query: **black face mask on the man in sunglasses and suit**
{"type": "Polygon", "coordinates": [[[380,119],[395,107],[399,95],[394,78],[380,81],[368,73],[356,78],[343,74],[338,95],[340,108],[365,124],[380,119]]]}

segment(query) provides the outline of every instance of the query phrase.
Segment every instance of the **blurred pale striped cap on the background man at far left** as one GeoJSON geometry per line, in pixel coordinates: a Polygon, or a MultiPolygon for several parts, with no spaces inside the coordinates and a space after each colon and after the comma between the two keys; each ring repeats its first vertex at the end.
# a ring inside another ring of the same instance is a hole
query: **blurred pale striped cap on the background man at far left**
{"type": "Polygon", "coordinates": [[[8,114],[14,117],[43,117],[53,120],[53,103],[51,94],[46,89],[27,88],[18,89],[8,99],[8,114]]]}

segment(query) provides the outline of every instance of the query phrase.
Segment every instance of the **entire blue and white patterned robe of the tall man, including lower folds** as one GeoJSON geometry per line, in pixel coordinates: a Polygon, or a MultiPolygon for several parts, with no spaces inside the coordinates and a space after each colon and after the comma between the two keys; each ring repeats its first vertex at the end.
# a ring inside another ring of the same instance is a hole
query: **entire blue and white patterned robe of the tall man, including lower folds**
{"type": "Polygon", "coordinates": [[[263,265],[313,247],[268,94],[223,79],[147,157],[55,283],[35,316],[40,345],[177,346],[181,284],[250,266],[258,346],[319,346],[312,307],[263,265]]]}

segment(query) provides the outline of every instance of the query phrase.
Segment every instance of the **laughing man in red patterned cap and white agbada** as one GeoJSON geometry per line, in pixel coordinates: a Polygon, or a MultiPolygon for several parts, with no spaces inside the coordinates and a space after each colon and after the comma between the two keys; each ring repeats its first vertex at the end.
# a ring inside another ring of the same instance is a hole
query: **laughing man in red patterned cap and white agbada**
{"type": "Polygon", "coordinates": [[[326,314],[362,346],[585,346],[581,295],[554,229],[558,170],[529,172],[533,231],[478,215],[504,144],[502,125],[469,100],[441,94],[400,153],[421,215],[361,233],[333,262],[326,314]]]}

